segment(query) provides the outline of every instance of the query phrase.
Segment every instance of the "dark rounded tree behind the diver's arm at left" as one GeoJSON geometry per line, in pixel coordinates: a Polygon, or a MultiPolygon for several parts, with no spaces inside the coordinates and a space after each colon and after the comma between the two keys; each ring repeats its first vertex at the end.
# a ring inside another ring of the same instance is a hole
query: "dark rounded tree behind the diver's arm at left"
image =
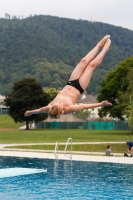
{"type": "Polygon", "coordinates": [[[39,122],[47,118],[47,114],[31,115],[25,117],[26,110],[33,110],[46,106],[50,97],[34,78],[24,78],[14,84],[12,92],[6,97],[6,106],[9,106],[9,115],[17,122],[26,121],[26,129],[29,122],[39,122]]]}

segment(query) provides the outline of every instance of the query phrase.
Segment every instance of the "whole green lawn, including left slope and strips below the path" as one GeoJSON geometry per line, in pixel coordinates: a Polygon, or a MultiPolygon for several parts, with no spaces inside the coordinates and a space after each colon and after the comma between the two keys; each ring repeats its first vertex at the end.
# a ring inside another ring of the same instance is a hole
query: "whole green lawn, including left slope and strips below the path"
{"type": "MultiPolygon", "coordinates": [[[[111,141],[116,141],[118,144],[111,145],[113,152],[123,153],[127,150],[126,144],[119,144],[119,142],[133,140],[133,136],[128,130],[34,129],[27,131],[18,130],[19,127],[20,124],[16,124],[10,116],[0,115],[0,144],[66,142],[71,137],[73,142],[107,142],[107,144],[111,144],[111,141]]],[[[105,152],[106,146],[106,144],[73,145],[73,150],[105,152]]],[[[54,145],[21,146],[21,148],[44,150],[53,150],[54,147],[54,145]]],[[[60,145],[59,150],[63,149],[64,145],[60,145]]]]}

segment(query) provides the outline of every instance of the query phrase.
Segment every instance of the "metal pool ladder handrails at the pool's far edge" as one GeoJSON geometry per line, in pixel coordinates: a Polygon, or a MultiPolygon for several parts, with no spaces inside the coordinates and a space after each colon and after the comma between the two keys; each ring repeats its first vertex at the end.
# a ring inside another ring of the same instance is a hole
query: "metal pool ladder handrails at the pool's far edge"
{"type": "MultiPolygon", "coordinates": [[[[58,159],[58,142],[56,142],[56,144],[55,144],[54,155],[55,155],[55,158],[58,159]]],[[[67,157],[69,157],[72,160],[72,138],[68,138],[67,139],[66,146],[65,146],[65,149],[64,149],[64,156],[67,156],[67,157]],[[70,155],[66,154],[66,152],[67,152],[67,146],[68,146],[69,142],[71,142],[70,155]]]]}

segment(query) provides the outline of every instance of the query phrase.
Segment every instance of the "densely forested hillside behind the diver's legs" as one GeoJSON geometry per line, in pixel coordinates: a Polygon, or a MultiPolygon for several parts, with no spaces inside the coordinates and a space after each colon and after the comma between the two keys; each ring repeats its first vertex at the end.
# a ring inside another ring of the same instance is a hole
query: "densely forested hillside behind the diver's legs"
{"type": "Polygon", "coordinates": [[[0,19],[0,93],[8,94],[24,77],[35,77],[43,87],[62,88],[75,65],[106,34],[111,35],[111,48],[95,70],[87,88],[90,94],[97,94],[101,79],[133,55],[133,31],[41,15],[0,19]]]}

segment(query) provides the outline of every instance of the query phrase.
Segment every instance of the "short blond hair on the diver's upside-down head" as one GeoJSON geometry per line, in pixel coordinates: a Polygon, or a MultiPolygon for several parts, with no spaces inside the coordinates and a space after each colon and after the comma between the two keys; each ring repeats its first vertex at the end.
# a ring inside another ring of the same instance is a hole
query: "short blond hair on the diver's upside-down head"
{"type": "Polygon", "coordinates": [[[62,114],[62,109],[58,108],[58,106],[52,106],[49,111],[48,115],[50,118],[59,118],[62,114]]]}

